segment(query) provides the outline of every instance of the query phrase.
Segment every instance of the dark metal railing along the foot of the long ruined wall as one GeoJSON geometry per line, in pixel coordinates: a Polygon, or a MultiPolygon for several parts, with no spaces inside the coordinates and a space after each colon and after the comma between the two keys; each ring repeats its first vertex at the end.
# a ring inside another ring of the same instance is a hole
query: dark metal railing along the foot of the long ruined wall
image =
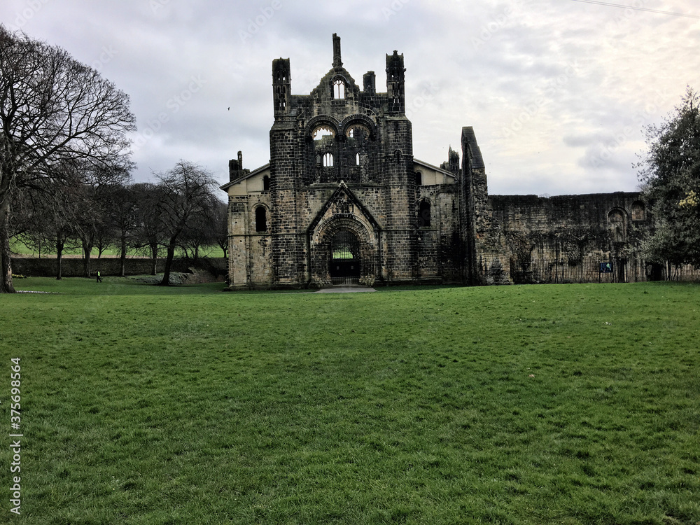
{"type": "Polygon", "coordinates": [[[578,261],[511,259],[510,277],[516,284],[700,281],[700,269],[692,265],[647,264],[639,255],[626,258],[587,257],[578,261]]]}

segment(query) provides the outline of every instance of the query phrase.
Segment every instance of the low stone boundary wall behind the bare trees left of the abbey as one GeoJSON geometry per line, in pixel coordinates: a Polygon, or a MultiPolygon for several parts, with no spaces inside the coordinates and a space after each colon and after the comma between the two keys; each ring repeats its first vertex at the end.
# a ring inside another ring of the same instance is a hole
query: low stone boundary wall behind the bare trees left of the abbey
{"type": "MultiPolygon", "coordinates": [[[[148,258],[127,258],[125,262],[125,272],[127,275],[148,275],[151,274],[153,262],[148,258]]],[[[158,259],[158,272],[162,272],[165,267],[165,259],[158,259]]],[[[195,264],[192,260],[174,259],[172,265],[173,272],[188,273],[192,268],[204,269],[209,272],[226,272],[225,258],[203,258],[195,264]]],[[[121,260],[118,258],[92,258],[90,259],[90,271],[92,275],[99,270],[102,275],[120,275],[122,270],[121,260]]],[[[15,275],[25,275],[31,277],[55,277],[57,272],[57,262],[55,258],[24,258],[12,259],[12,272],[15,275]]],[[[63,277],[82,277],[82,258],[63,258],[61,260],[61,275],[63,277]]]]}

